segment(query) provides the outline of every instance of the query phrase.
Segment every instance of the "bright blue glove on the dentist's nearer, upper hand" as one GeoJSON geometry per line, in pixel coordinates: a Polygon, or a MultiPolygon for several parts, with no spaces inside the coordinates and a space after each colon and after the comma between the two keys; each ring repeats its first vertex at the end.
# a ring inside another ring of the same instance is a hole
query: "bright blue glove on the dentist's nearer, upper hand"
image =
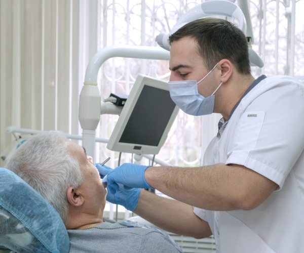
{"type": "Polygon", "coordinates": [[[118,183],[133,188],[154,189],[144,179],[144,172],[148,167],[150,166],[124,163],[107,173],[107,184],[111,186],[118,183]]]}

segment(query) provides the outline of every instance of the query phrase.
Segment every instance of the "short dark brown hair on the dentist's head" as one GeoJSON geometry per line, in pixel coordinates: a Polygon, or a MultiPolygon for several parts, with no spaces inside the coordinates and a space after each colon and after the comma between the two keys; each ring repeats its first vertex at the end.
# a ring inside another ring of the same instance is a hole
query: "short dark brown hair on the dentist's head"
{"type": "Polygon", "coordinates": [[[189,22],[169,36],[169,44],[183,37],[193,37],[198,53],[211,70],[222,59],[232,62],[240,74],[250,74],[247,38],[243,31],[229,21],[202,18],[189,22]]]}

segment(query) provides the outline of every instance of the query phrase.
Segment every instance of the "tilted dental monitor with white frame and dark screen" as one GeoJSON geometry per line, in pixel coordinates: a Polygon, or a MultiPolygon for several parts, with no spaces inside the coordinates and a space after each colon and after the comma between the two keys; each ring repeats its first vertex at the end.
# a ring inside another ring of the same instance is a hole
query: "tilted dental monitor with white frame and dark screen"
{"type": "Polygon", "coordinates": [[[107,148],[118,152],[158,154],[177,112],[168,83],[139,74],[107,148]]]}

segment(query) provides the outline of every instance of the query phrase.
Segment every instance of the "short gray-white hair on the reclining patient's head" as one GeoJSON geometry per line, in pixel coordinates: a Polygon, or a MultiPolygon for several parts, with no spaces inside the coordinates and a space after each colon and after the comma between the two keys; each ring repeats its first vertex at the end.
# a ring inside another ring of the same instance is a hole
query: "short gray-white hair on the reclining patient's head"
{"type": "Polygon", "coordinates": [[[68,211],[67,189],[77,188],[84,181],[67,143],[61,132],[37,134],[17,149],[6,166],[53,205],[63,222],[68,211]]]}

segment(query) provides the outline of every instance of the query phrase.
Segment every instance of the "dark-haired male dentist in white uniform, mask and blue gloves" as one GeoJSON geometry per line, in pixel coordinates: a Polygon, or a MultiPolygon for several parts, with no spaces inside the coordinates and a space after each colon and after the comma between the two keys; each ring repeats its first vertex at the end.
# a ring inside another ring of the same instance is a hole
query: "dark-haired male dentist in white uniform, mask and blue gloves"
{"type": "Polygon", "coordinates": [[[303,83],[255,79],[245,35],[225,20],[187,23],[169,43],[172,100],[187,114],[220,113],[218,134],[200,167],[95,164],[107,200],[170,232],[213,234],[217,252],[304,252],[303,83]]]}

